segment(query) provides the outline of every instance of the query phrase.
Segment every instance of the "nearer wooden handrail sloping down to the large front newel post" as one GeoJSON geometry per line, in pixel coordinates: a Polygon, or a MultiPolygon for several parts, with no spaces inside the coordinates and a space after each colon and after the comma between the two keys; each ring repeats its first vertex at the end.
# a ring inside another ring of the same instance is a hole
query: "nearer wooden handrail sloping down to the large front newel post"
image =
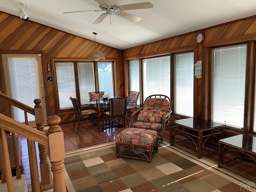
{"type": "Polygon", "coordinates": [[[32,141],[49,146],[48,135],[46,133],[38,131],[26,124],[17,122],[16,120],[3,114],[0,114],[0,127],[20,136],[26,137],[32,141]],[[26,130],[26,132],[24,132],[24,130],[26,130]]]}

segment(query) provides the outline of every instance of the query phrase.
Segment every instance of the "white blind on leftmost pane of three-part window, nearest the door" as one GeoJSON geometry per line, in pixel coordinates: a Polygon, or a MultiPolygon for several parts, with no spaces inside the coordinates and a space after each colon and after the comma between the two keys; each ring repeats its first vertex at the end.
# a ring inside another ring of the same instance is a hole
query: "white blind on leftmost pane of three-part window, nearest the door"
{"type": "Polygon", "coordinates": [[[76,98],[75,80],[74,80],[74,63],[61,62],[55,63],[59,108],[73,108],[70,96],[76,98]]]}

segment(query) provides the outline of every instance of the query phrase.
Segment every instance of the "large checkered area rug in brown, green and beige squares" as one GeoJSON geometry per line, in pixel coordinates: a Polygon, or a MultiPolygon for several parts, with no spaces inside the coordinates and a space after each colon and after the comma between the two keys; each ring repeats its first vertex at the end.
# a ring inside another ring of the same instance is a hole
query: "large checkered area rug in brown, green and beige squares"
{"type": "MultiPolygon", "coordinates": [[[[66,154],[68,192],[240,192],[254,182],[197,159],[166,142],[152,162],[116,158],[114,143],[66,154]]],[[[137,155],[134,152],[131,154],[137,155]]]]}

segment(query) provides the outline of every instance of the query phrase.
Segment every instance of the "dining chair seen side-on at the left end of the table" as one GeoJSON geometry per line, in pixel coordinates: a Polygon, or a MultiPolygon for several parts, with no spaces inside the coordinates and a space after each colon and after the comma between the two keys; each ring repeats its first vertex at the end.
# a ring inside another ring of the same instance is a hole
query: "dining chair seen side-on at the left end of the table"
{"type": "MultiPolygon", "coordinates": [[[[94,115],[97,114],[96,110],[94,110],[94,108],[92,108],[91,106],[80,106],[76,100],[76,98],[69,98],[73,104],[76,116],[79,116],[79,124],[78,124],[78,130],[77,130],[77,134],[79,132],[79,128],[80,128],[80,122],[83,116],[88,116],[90,115],[90,119],[92,121],[92,118],[94,115]]],[[[74,126],[73,126],[73,130],[75,128],[75,124],[76,124],[76,117],[75,117],[75,121],[74,121],[74,126]]]]}

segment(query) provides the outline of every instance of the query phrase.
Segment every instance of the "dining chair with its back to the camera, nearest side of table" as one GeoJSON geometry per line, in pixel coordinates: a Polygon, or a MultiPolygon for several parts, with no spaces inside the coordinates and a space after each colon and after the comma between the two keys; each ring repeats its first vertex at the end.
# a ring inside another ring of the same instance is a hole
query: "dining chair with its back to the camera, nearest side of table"
{"type": "MultiPolygon", "coordinates": [[[[111,136],[112,136],[112,126],[114,123],[116,123],[117,126],[125,127],[124,118],[126,118],[126,121],[128,124],[126,107],[127,107],[127,97],[109,99],[110,110],[103,113],[103,118],[105,118],[106,120],[104,121],[104,124],[105,124],[104,127],[110,128],[111,136]],[[122,122],[120,122],[120,118],[122,118],[122,122]]],[[[129,127],[129,124],[128,124],[128,127],[129,127]]]]}

